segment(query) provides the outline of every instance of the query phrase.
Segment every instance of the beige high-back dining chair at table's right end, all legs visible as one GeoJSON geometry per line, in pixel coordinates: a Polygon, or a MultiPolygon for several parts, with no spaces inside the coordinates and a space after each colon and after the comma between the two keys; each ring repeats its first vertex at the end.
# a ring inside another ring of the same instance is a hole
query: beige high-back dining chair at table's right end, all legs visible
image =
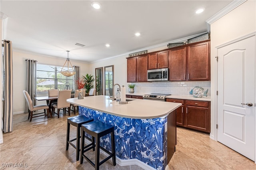
{"type": "Polygon", "coordinates": [[[52,114],[58,115],[58,118],[60,118],[60,109],[63,109],[63,114],[66,114],[66,108],[68,108],[68,115],[70,115],[70,103],[68,103],[66,100],[71,98],[71,90],[62,90],[59,91],[57,104],[52,105],[52,114]],[[55,113],[55,108],[58,109],[57,113],[55,113]]]}

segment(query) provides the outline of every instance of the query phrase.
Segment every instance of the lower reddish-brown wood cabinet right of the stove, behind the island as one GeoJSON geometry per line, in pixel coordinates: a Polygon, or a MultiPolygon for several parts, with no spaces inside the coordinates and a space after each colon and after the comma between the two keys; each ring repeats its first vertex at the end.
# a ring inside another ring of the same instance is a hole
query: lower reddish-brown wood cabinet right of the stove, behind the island
{"type": "Polygon", "coordinates": [[[176,110],[176,125],[210,133],[210,101],[166,99],[167,102],[182,103],[176,110]]]}

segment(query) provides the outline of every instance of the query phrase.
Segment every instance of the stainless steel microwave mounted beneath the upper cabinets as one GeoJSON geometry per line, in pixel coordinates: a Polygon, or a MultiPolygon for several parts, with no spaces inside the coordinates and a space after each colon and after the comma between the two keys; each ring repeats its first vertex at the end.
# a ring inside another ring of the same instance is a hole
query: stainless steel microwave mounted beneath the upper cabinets
{"type": "Polygon", "coordinates": [[[168,81],[168,68],[148,70],[148,81],[168,81]]]}

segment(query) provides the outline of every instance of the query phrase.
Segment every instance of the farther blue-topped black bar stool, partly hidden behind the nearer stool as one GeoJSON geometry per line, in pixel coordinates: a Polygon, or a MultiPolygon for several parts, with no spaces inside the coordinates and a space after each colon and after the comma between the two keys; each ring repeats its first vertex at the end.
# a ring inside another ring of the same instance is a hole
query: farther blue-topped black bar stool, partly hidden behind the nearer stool
{"type": "MultiPolygon", "coordinates": [[[[79,151],[80,151],[80,128],[81,125],[84,123],[88,123],[93,121],[92,118],[88,118],[84,115],[78,115],[74,117],[67,118],[67,139],[66,139],[66,150],[68,150],[68,145],[70,144],[76,149],[76,160],[79,160],[79,151]],[[70,132],[70,124],[76,127],[76,138],[69,139],[69,132],[70,132]],[[72,143],[72,141],[76,140],[76,145],[72,143]]],[[[89,139],[89,138],[88,138],[89,139]]],[[[89,139],[90,140],[90,139],[89,139]]]]}

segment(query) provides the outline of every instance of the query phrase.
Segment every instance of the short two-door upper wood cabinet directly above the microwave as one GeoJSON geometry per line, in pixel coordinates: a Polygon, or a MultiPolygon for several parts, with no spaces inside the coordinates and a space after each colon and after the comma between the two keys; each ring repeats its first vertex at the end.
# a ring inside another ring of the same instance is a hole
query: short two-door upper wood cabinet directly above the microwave
{"type": "Polygon", "coordinates": [[[148,54],[148,69],[168,68],[168,51],[148,54]]]}

